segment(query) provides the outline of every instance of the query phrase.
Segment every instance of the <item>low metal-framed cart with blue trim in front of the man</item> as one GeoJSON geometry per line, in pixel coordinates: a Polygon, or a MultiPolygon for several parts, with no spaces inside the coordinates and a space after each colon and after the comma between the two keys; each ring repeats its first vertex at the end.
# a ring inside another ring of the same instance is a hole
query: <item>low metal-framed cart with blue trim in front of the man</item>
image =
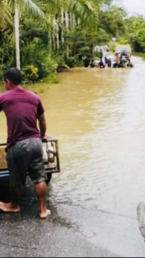
{"type": "MultiPolygon", "coordinates": [[[[9,171],[6,162],[6,143],[0,143],[0,181],[9,179],[9,171]]],[[[58,151],[58,140],[48,137],[43,142],[43,160],[47,173],[47,183],[50,182],[52,173],[60,172],[60,160],[58,151]]]]}

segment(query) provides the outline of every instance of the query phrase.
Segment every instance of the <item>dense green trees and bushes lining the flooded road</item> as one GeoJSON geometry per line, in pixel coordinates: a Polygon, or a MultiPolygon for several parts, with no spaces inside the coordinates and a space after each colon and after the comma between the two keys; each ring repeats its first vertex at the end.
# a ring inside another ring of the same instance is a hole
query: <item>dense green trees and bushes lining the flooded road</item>
{"type": "Polygon", "coordinates": [[[112,5],[113,0],[2,0],[1,78],[6,69],[15,66],[15,2],[20,7],[21,70],[26,83],[41,82],[46,78],[47,82],[57,82],[57,72],[82,66],[86,56],[90,59],[100,57],[100,52],[93,52],[96,45],[109,44],[113,51],[112,37],[117,38],[118,44],[131,44],[135,51],[145,51],[145,18],[127,18],[122,8],[112,5]],[[61,22],[61,8],[64,13],[69,13],[68,29],[65,20],[63,24],[61,22]],[[72,15],[75,15],[75,23],[72,15]]]}

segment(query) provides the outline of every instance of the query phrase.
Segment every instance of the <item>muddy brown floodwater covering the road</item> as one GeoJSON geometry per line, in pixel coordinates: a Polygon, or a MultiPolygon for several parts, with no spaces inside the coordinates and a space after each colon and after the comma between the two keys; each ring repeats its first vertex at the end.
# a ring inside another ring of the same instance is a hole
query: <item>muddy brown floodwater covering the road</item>
{"type": "MultiPolygon", "coordinates": [[[[145,201],[145,62],[134,68],[74,68],[40,94],[47,134],[59,139],[58,202],[136,217],[145,201]]],[[[0,113],[0,141],[6,141],[0,113]]]]}

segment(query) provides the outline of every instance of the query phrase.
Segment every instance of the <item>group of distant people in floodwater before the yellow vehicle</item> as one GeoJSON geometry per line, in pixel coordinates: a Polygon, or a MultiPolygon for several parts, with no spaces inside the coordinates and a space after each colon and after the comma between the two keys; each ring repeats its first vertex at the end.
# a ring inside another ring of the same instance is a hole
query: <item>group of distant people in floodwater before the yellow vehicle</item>
{"type": "Polygon", "coordinates": [[[113,67],[133,67],[133,65],[130,62],[130,56],[123,51],[121,54],[116,54],[115,58],[112,62],[111,58],[107,58],[105,56],[105,62],[103,62],[103,53],[100,55],[100,61],[98,60],[90,60],[89,57],[86,57],[84,60],[84,67],[99,67],[99,68],[105,68],[108,66],[109,68],[113,67]]]}

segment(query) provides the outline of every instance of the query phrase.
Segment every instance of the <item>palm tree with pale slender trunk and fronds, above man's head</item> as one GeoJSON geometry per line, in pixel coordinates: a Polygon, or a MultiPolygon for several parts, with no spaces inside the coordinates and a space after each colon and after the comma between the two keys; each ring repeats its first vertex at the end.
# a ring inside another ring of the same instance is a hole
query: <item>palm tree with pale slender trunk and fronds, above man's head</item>
{"type": "Polygon", "coordinates": [[[20,11],[31,12],[34,17],[39,17],[46,21],[46,16],[41,8],[34,0],[2,0],[14,12],[14,28],[15,28],[15,48],[16,48],[16,66],[20,70],[20,43],[19,43],[19,13],[20,11]]]}

